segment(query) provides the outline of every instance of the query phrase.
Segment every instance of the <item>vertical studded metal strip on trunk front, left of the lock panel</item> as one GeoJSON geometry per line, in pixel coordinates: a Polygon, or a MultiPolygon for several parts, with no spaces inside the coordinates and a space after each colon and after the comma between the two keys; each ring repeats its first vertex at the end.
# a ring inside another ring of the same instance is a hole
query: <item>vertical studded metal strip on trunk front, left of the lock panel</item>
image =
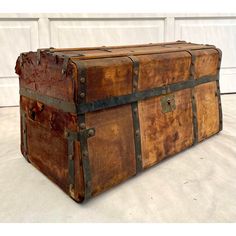
{"type": "MultiPolygon", "coordinates": [[[[129,56],[133,63],[133,93],[138,89],[139,77],[139,61],[137,57],[129,56]]],[[[142,170],[142,151],[141,151],[141,136],[139,125],[138,101],[131,103],[133,128],[134,128],[134,146],[135,146],[135,159],[136,159],[136,174],[142,170]]]]}

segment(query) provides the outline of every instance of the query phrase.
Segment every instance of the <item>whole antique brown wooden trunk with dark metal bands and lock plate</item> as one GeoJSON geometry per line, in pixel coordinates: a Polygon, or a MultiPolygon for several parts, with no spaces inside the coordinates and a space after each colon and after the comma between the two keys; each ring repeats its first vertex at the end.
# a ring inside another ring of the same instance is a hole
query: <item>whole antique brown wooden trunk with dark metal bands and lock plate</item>
{"type": "Polygon", "coordinates": [[[184,41],[22,53],[21,152],[87,200],[222,129],[220,62],[184,41]]]}

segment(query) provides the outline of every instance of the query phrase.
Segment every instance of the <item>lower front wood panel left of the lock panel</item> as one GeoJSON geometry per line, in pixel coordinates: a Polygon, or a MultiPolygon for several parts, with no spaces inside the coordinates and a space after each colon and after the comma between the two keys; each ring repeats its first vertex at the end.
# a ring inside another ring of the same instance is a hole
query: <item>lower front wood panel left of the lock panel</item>
{"type": "Polygon", "coordinates": [[[92,195],[96,195],[136,173],[131,106],[125,105],[86,114],[92,195]]]}

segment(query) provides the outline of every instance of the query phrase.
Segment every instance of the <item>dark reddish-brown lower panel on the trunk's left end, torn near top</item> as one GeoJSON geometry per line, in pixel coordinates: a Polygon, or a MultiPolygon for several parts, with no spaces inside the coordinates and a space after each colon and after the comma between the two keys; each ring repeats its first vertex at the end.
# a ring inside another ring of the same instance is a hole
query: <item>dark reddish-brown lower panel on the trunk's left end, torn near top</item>
{"type": "Polygon", "coordinates": [[[27,156],[41,172],[68,192],[68,151],[65,130],[77,130],[76,115],[21,96],[26,114],[27,156]],[[32,113],[33,111],[33,113],[32,113]]]}

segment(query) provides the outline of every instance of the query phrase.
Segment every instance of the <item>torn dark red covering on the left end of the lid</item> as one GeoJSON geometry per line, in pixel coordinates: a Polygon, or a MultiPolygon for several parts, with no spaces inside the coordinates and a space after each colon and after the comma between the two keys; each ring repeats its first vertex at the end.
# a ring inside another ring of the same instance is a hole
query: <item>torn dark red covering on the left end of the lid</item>
{"type": "Polygon", "coordinates": [[[23,54],[22,66],[20,66],[19,58],[16,65],[20,87],[63,101],[73,102],[76,85],[72,78],[74,78],[75,67],[70,63],[67,73],[62,74],[63,62],[63,58],[41,52],[40,64],[37,64],[35,52],[23,54]]]}

